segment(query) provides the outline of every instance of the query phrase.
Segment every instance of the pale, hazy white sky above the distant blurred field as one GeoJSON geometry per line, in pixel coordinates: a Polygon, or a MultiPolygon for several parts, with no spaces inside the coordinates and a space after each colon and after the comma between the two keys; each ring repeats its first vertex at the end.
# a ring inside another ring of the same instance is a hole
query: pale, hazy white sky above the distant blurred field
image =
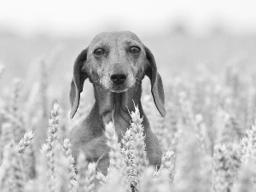
{"type": "Polygon", "coordinates": [[[130,30],[165,33],[184,21],[195,33],[219,24],[256,33],[255,0],[0,0],[0,28],[31,35],[130,30]]]}

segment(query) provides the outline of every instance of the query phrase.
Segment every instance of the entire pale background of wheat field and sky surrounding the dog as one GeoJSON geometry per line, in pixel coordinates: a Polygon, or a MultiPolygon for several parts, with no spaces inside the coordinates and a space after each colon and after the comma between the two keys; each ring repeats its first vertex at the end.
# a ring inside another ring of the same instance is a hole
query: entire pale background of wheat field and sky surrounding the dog
{"type": "Polygon", "coordinates": [[[0,8],[1,192],[255,191],[254,1],[45,2],[0,8]],[[166,118],[147,77],[142,102],[164,154],[160,170],[148,166],[135,111],[121,146],[106,125],[106,177],[84,156],[74,166],[67,139],[90,111],[92,85],[73,120],[68,96],[79,52],[99,32],[127,29],[151,49],[163,79],[166,118]]]}

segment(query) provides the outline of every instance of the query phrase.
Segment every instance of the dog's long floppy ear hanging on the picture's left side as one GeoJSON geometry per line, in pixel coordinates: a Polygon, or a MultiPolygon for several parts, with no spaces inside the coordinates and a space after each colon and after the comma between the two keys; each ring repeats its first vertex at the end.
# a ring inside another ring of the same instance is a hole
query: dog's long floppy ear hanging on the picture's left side
{"type": "Polygon", "coordinates": [[[70,118],[73,119],[73,115],[79,108],[80,93],[83,91],[84,80],[88,78],[86,72],[82,71],[84,61],[86,61],[88,48],[82,50],[78,55],[73,66],[73,79],[71,82],[71,89],[69,93],[69,100],[71,104],[70,118]]]}

